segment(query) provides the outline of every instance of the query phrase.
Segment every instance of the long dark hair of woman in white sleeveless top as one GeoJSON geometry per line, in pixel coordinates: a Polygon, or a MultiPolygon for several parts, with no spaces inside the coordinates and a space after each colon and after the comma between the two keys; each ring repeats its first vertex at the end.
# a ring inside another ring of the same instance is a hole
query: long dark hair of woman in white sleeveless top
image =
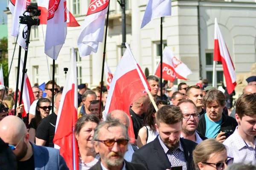
{"type": "MultiPolygon", "coordinates": [[[[165,100],[154,100],[154,101],[157,105],[157,108],[160,105],[168,105],[168,103],[165,100]]],[[[148,110],[146,111],[146,114],[145,114],[143,126],[149,126],[150,130],[152,130],[153,132],[156,131],[156,127],[155,127],[154,121],[153,121],[154,118],[152,117],[152,115],[154,113],[157,113],[157,111],[155,110],[154,105],[152,103],[150,103],[148,105],[148,110]]]]}

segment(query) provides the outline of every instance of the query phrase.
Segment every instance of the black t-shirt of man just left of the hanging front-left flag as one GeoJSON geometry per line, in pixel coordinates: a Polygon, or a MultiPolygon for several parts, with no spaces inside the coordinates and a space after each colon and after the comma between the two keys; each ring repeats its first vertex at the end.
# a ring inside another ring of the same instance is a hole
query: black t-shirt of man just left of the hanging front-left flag
{"type": "Polygon", "coordinates": [[[57,115],[55,113],[46,116],[38,124],[38,128],[35,132],[35,137],[46,141],[45,146],[54,147],[53,138],[55,135],[55,125],[57,122],[57,115]]]}

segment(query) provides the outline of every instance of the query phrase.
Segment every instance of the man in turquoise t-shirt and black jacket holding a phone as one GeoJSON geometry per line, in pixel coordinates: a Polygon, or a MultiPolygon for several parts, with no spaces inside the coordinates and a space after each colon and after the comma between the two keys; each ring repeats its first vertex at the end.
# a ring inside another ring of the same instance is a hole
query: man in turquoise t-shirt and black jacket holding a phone
{"type": "Polygon", "coordinates": [[[226,104],[224,94],[217,89],[209,90],[203,98],[203,103],[206,105],[206,113],[199,119],[198,132],[207,138],[224,142],[237,126],[236,119],[223,113],[226,104]]]}

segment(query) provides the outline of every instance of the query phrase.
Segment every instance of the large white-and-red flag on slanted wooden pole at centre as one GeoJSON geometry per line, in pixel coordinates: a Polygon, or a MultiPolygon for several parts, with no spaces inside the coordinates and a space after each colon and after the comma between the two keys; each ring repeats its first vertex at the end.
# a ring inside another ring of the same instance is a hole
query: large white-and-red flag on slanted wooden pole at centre
{"type": "Polygon", "coordinates": [[[105,105],[104,119],[114,110],[124,111],[130,118],[128,134],[135,142],[134,130],[129,108],[131,104],[150,91],[150,87],[140,66],[135,60],[128,43],[112,79],[105,105]]]}

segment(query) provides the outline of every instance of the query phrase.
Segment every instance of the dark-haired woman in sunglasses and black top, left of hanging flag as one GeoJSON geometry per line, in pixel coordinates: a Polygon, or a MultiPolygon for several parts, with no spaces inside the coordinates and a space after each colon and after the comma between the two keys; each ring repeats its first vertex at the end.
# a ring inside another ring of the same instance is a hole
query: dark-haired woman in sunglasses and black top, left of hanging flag
{"type": "Polygon", "coordinates": [[[35,143],[35,131],[44,117],[50,114],[51,101],[47,98],[41,98],[36,104],[35,117],[29,123],[29,141],[35,143]]]}

